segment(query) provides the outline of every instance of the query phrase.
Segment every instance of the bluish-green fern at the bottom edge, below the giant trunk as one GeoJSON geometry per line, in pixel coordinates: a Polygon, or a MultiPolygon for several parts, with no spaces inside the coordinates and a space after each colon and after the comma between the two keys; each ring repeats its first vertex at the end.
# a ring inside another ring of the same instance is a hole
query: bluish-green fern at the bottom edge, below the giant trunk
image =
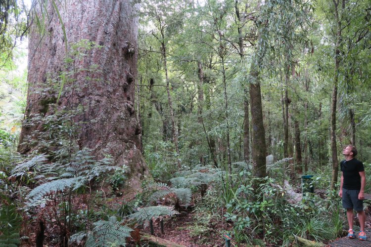
{"type": "Polygon", "coordinates": [[[115,216],[111,216],[108,221],[99,220],[93,223],[93,230],[85,233],[79,232],[70,237],[69,245],[73,243],[81,244],[84,237],[88,236],[85,243],[86,247],[112,247],[126,246],[126,239],[130,237],[133,230],[122,225],[115,216]]]}

